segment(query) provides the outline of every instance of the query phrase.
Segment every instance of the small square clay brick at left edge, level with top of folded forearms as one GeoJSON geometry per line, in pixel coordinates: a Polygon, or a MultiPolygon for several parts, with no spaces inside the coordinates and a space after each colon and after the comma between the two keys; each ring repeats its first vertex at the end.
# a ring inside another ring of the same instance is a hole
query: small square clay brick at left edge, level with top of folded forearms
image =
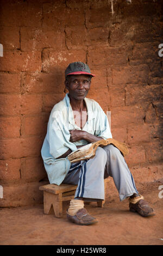
{"type": "Polygon", "coordinates": [[[14,138],[20,137],[21,120],[20,117],[0,117],[0,137],[14,138]]]}

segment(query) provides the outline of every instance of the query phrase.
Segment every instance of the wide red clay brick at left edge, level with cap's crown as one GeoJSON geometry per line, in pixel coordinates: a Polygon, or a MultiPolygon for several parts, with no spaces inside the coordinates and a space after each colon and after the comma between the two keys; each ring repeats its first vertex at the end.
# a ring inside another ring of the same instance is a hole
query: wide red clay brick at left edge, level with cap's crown
{"type": "Polygon", "coordinates": [[[4,51],[0,71],[41,71],[41,52],[4,51]]]}

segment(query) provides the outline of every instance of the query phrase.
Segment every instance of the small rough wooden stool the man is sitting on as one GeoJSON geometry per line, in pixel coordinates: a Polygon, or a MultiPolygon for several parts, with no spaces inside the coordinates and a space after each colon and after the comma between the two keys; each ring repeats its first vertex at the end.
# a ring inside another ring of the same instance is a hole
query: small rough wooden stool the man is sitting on
{"type": "MultiPolygon", "coordinates": [[[[104,179],[105,190],[106,184],[109,179],[104,179]]],[[[74,199],[74,194],[76,192],[77,185],[64,184],[55,185],[48,184],[40,186],[39,190],[43,190],[43,211],[44,214],[54,214],[55,217],[62,217],[62,202],[74,199]]],[[[104,207],[105,200],[97,200],[98,207],[104,207]]]]}

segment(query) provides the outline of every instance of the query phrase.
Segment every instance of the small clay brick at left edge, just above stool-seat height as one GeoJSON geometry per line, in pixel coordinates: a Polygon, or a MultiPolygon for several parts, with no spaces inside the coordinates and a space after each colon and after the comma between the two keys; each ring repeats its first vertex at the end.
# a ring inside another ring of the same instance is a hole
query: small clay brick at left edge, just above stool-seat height
{"type": "Polygon", "coordinates": [[[0,180],[12,181],[20,179],[20,159],[0,160],[0,180]]]}

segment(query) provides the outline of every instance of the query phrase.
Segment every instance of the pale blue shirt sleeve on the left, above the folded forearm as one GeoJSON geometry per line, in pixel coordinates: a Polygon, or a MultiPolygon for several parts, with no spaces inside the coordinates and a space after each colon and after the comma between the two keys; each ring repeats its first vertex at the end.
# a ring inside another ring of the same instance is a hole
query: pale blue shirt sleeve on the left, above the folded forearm
{"type": "Polygon", "coordinates": [[[51,113],[47,127],[47,141],[49,153],[56,159],[66,153],[68,149],[77,150],[74,143],[70,142],[70,132],[61,111],[51,113]]]}

